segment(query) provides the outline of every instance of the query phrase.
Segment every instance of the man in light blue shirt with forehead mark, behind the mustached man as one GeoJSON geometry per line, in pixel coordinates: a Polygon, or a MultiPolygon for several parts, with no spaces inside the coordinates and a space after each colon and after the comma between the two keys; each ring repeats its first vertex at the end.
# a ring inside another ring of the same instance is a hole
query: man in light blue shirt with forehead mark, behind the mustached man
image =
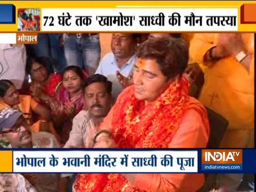
{"type": "Polygon", "coordinates": [[[132,67],[136,61],[134,52],[138,40],[137,34],[113,34],[111,39],[112,52],[103,57],[95,72],[95,74],[106,76],[113,83],[114,99],[123,90],[118,76],[129,77],[131,75],[132,67]]]}

